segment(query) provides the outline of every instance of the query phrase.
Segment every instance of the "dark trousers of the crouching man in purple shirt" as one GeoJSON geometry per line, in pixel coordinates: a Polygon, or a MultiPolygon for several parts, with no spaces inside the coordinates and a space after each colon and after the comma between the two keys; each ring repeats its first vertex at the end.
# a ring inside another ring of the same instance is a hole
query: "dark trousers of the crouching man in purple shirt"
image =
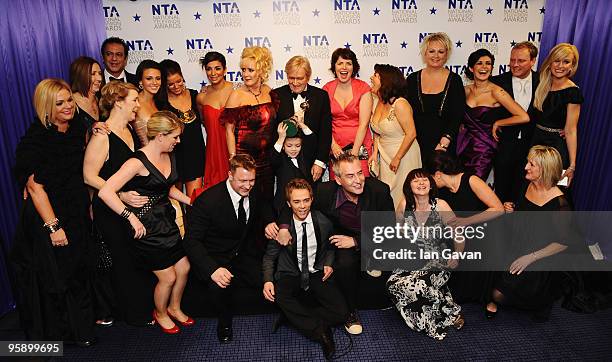
{"type": "Polygon", "coordinates": [[[361,253],[355,248],[336,250],[334,274],[350,312],[357,308],[357,293],[361,276],[361,253]]]}

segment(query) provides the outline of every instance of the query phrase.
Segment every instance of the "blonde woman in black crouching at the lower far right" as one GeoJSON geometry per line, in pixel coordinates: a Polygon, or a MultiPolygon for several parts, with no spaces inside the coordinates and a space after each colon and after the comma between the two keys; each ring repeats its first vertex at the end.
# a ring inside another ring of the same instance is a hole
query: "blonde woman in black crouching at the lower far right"
{"type": "MultiPolygon", "coordinates": [[[[562,163],[559,152],[549,146],[533,146],[527,156],[525,178],[529,181],[523,196],[516,204],[505,203],[506,212],[549,211],[535,218],[530,213],[519,215],[513,223],[512,251],[507,272],[501,273],[495,281],[492,298],[487,305],[487,316],[493,317],[497,304],[512,305],[521,309],[536,311],[537,318],[546,319],[554,301],[555,273],[531,271],[530,266],[541,266],[561,258],[570,245],[570,222],[567,213],[569,203],[557,187],[561,179],[562,163]],[[545,260],[542,260],[545,259],[545,260]]],[[[563,265],[563,264],[557,264],[563,265]]]]}

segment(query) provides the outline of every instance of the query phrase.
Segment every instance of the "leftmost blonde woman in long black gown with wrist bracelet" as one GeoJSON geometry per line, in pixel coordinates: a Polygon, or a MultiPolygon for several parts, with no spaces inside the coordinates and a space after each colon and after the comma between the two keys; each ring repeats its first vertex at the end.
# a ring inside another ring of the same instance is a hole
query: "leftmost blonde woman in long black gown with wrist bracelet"
{"type": "Polygon", "coordinates": [[[15,175],[26,188],[11,259],[19,315],[30,340],[89,346],[94,316],[89,293],[89,196],[83,183],[86,128],[72,123],[74,100],[61,79],[34,91],[38,120],[16,151],[15,175]]]}

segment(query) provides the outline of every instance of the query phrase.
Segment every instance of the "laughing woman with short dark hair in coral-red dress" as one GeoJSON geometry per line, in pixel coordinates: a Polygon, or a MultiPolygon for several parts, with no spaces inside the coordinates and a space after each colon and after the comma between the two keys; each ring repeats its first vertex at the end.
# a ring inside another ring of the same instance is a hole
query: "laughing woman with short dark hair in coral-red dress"
{"type": "MultiPolygon", "coordinates": [[[[349,151],[359,156],[363,173],[369,176],[368,157],[372,155],[372,134],[368,129],[372,114],[370,86],[355,78],[359,62],[350,49],[338,48],[333,52],[331,70],[336,79],[323,86],[329,93],[332,111],[331,154],[337,157],[349,151]]],[[[334,179],[332,168],[329,170],[330,179],[334,179]]]]}

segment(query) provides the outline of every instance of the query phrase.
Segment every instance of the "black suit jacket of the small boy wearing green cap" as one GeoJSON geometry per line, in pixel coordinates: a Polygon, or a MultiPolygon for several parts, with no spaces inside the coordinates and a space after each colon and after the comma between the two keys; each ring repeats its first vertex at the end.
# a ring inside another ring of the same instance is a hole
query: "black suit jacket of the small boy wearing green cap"
{"type": "MultiPolygon", "coordinates": [[[[305,136],[304,138],[312,137],[314,135],[305,136]]],[[[303,142],[303,141],[302,141],[303,142]]],[[[297,162],[299,167],[295,167],[293,162],[291,162],[291,158],[287,156],[287,154],[281,150],[281,152],[276,151],[273,147],[270,151],[270,162],[272,163],[272,168],[274,169],[274,174],[276,175],[276,193],[274,194],[274,210],[279,212],[285,203],[285,186],[287,183],[294,178],[303,178],[311,185],[312,174],[310,173],[310,167],[304,161],[304,155],[302,152],[297,157],[297,162]]]]}

